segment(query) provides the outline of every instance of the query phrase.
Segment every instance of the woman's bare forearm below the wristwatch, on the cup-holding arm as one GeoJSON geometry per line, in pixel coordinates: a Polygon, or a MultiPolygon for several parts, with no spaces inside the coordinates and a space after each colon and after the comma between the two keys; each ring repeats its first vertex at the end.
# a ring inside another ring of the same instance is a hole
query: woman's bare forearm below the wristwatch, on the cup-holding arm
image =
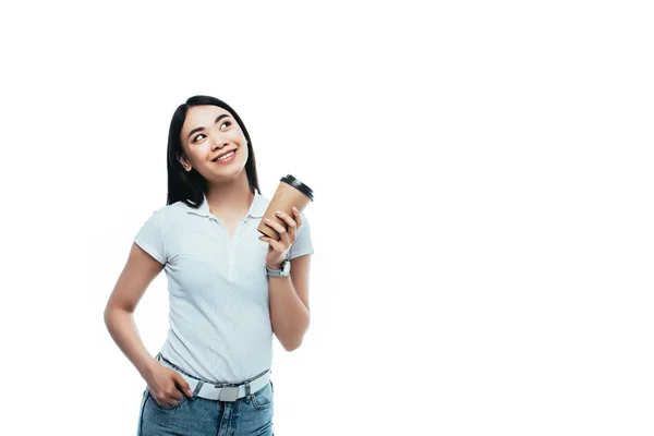
{"type": "Polygon", "coordinates": [[[290,277],[268,277],[268,295],[272,330],[283,348],[293,351],[300,347],[308,329],[310,313],[290,277]]]}

